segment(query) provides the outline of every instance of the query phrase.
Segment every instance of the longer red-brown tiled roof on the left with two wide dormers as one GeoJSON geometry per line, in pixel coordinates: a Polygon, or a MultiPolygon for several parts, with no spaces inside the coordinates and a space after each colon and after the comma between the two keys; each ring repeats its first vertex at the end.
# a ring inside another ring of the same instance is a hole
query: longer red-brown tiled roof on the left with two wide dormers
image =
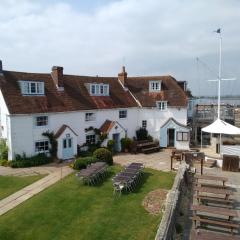
{"type": "Polygon", "coordinates": [[[117,78],[64,75],[64,91],[57,91],[51,74],[3,71],[0,88],[11,114],[68,112],[89,109],[137,107],[117,78]],[[44,81],[45,96],[22,96],[19,80],[44,81]],[[87,83],[109,84],[109,96],[90,96],[87,83]]]}

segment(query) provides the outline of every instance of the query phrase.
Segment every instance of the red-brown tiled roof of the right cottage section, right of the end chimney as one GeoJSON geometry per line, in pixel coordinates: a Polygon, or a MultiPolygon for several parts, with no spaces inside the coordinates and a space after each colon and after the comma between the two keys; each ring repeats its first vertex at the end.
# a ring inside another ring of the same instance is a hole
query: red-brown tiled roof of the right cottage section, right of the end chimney
{"type": "Polygon", "coordinates": [[[143,107],[156,107],[156,101],[167,101],[168,106],[187,106],[185,92],[171,76],[128,77],[125,84],[143,107]],[[162,81],[160,92],[149,92],[151,80],[162,81]]]}

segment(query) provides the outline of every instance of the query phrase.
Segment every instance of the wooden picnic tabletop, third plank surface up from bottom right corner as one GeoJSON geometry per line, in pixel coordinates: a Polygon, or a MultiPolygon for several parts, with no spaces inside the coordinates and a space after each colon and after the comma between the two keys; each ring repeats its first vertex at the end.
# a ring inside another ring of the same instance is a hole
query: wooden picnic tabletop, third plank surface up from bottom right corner
{"type": "Polygon", "coordinates": [[[209,207],[204,205],[193,205],[191,207],[194,215],[196,215],[196,212],[205,212],[220,216],[226,216],[228,217],[228,220],[232,220],[234,217],[238,217],[237,210],[228,209],[228,208],[221,208],[221,207],[209,207]]]}

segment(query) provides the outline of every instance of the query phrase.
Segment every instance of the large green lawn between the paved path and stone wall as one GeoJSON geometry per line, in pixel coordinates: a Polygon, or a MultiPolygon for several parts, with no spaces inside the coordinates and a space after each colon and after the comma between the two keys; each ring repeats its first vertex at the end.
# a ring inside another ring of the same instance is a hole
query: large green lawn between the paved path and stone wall
{"type": "MultiPolygon", "coordinates": [[[[119,171],[110,168],[111,177],[119,171]]],[[[175,175],[145,169],[134,193],[113,196],[111,177],[84,186],[72,174],[0,217],[1,239],[134,240],[154,239],[161,216],[141,205],[156,188],[170,189],[175,175]]]]}

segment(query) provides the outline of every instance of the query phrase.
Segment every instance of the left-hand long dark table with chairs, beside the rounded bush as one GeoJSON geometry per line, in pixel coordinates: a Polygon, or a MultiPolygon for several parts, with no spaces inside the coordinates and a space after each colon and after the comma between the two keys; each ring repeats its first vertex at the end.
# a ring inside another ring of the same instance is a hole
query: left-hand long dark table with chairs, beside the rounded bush
{"type": "Polygon", "coordinates": [[[76,173],[76,176],[82,180],[84,184],[95,185],[101,182],[107,175],[107,163],[96,162],[88,165],[86,169],[82,169],[76,173]]]}

